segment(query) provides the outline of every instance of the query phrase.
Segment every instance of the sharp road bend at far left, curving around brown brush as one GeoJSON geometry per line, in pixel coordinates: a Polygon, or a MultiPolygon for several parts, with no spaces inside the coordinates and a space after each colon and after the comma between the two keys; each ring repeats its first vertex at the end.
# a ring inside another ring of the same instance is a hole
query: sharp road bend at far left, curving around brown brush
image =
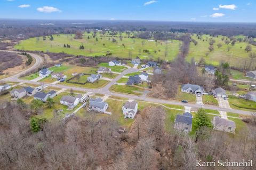
{"type": "MultiPolygon", "coordinates": [[[[0,50],[0,51],[10,52],[10,53],[20,53],[19,51],[7,51],[7,50],[0,50]]],[[[15,74],[15,75],[10,76],[10,77],[3,78],[1,80],[3,80],[3,81],[10,81],[10,80],[12,80],[12,81],[17,81],[18,82],[19,77],[21,75],[26,74],[27,72],[30,72],[30,71],[32,71],[34,69],[39,68],[41,66],[41,64],[43,63],[42,56],[34,54],[34,53],[28,53],[28,54],[30,54],[33,57],[33,59],[36,60],[35,63],[33,64],[33,66],[29,67],[26,70],[23,70],[23,71],[19,72],[18,74],[15,74]]]]}

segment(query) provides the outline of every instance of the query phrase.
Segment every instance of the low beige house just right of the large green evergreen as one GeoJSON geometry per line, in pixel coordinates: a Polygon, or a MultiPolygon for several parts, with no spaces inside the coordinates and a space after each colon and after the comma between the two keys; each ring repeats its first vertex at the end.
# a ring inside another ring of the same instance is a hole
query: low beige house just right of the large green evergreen
{"type": "Polygon", "coordinates": [[[223,119],[219,116],[214,116],[212,123],[213,129],[217,131],[235,133],[236,124],[233,120],[223,119]]]}

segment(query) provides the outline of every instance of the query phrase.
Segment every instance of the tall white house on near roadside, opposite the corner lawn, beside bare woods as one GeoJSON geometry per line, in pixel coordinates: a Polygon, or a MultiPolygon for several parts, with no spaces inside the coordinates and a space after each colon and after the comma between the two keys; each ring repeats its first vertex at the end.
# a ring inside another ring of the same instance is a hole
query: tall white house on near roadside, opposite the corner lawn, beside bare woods
{"type": "Polygon", "coordinates": [[[138,111],[138,103],[136,101],[126,102],[122,107],[124,118],[133,119],[138,111]]]}

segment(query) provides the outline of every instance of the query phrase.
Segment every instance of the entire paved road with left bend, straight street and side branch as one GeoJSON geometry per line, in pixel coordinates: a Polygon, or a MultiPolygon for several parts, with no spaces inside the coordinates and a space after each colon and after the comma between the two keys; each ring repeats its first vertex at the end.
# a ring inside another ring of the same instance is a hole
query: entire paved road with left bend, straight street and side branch
{"type": "MultiPolygon", "coordinates": [[[[14,52],[14,51],[6,51],[6,52],[14,52]]],[[[15,52],[17,53],[17,52],[15,52]]],[[[36,59],[36,62],[33,66],[28,68],[27,70],[19,72],[19,74],[4,78],[2,80],[4,81],[11,81],[11,82],[19,82],[19,83],[29,83],[29,84],[35,84],[35,85],[41,85],[40,82],[33,82],[30,80],[22,80],[19,79],[19,76],[22,74],[25,74],[26,72],[29,72],[35,68],[38,68],[40,64],[43,62],[43,59],[41,56],[29,53],[31,56],[33,56],[34,59],[36,59]]],[[[120,75],[118,75],[116,78],[114,78],[109,84],[107,84],[105,87],[99,88],[99,89],[90,89],[90,88],[83,88],[83,87],[72,87],[72,86],[67,86],[67,85],[61,85],[61,84],[49,84],[49,83],[44,83],[44,85],[49,86],[49,87],[57,87],[57,88],[73,88],[73,90],[76,91],[82,91],[82,92],[92,92],[92,93],[100,93],[100,94],[106,94],[106,95],[113,95],[113,96],[118,96],[121,98],[130,98],[134,100],[142,100],[142,101],[147,101],[151,103],[161,103],[161,104],[174,104],[178,106],[187,106],[187,107],[192,107],[192,108],[203,108],[203,109],[211,109],[211,110],[218,110],[218,111],[226,111],[226,112],[234,112],[237,114],[242,114],[242,115],[251,115],[252,112],[250,111],[244,111],[244,110],[237,110],[237,109],[230,109],[230,108],[220,108],[218,106],[210,106],[210,105],[199,105],[199,104],[194,104],[194,103],[181,103],[179,101],[174,101],[174,100],[162,100],[162,99],[156,99],[156,98],[149,98],[148,96],[137,96],[137,95],[129,95],[129,94],[123,94],[123,93],[114,93],[110,92],[109,88],[114,85],[118,79],[120,79],[122,76],[126,74],[130,74],[132,72],[138,72],[139,69],[134,69],[134,68],[129,68],[124,70],[120,75]]]]}

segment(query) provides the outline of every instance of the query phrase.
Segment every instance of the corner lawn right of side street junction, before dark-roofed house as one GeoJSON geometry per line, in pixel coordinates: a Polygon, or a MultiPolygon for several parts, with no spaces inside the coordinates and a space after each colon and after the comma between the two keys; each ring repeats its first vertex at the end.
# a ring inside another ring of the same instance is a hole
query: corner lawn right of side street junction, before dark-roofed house
{"type": "Polygon", "coordinates": [[[110,91],[134,95],[141,95],[143,92],[141,88],[126,85],[113,85],[110,87],[110,91]]]}

